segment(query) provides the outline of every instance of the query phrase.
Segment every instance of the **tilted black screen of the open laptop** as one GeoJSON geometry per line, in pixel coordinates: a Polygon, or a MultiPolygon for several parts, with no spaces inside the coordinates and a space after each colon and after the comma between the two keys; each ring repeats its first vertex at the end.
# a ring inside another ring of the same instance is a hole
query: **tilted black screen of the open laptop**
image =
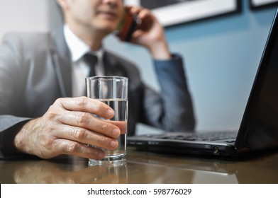
{"type": "MultiPolygon", "coordinates": [[[[278,16],[276,14],[240,126],[247,150],[278,145],[278,16]]],[[[242,136],[242,135],[240,135],[242,136]]],[[[240,138],[240,137],[238,137],[240,138]]]]}

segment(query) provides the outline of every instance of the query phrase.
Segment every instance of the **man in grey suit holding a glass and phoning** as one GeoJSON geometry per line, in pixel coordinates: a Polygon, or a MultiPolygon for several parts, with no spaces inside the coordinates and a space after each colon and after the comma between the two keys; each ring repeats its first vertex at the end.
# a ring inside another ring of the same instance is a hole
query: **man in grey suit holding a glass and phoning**
{"type": "Polygon", "coordinates": [[[161,92],[148,88],[136,66],[107,52],[102,40],[116,30],[122,0],[57,0],[65,25],[55,33],[11,33],[0,48],[0,158],[61,154],[104,158],[118,146],[120,130],[93,115],[113,110],[85,95],[88,52],[96,75],[127,76],[128,135],[142,122],[167,131],[194,129],[194,111],[182,58],[170,54],[164,30],[145,8],[130,7],[142,21],[131,42],[150,52],[161,92]]]}

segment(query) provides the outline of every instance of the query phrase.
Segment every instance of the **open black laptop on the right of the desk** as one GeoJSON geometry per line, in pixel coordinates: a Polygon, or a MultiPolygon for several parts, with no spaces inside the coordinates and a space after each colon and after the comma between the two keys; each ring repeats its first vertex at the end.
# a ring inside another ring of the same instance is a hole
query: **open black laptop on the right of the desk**
{"type": "Polygon", "coordinates": [[[169,132],[128,137],[143,151],[238,157],[278,148],[278,9],[238,132],[169,132]]]}

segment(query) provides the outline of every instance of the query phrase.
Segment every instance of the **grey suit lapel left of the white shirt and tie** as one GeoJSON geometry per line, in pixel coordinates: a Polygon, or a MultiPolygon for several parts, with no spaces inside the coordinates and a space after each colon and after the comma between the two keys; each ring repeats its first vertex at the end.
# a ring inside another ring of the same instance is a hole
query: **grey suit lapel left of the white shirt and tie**
{"type": "Polygon", "coordinates": [[[51,47],[52,62],[59,83],[62,97],[72,96],[72,69],[70,62],[70,50],[65,42],[62,28],[52,34],[51,47]]]}

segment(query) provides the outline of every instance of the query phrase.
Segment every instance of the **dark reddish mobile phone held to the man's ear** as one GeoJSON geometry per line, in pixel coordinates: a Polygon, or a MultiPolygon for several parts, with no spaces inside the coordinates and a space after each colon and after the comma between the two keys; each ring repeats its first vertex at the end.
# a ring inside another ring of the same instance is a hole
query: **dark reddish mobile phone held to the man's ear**
{"type": "Polygon", "coordinates": [[[132,34],[138,26],[138,17],[131,14],[128,8],[125,8],[121,22],[118,24],[116,36],[122,41],[130,41],[132,34]]]}

